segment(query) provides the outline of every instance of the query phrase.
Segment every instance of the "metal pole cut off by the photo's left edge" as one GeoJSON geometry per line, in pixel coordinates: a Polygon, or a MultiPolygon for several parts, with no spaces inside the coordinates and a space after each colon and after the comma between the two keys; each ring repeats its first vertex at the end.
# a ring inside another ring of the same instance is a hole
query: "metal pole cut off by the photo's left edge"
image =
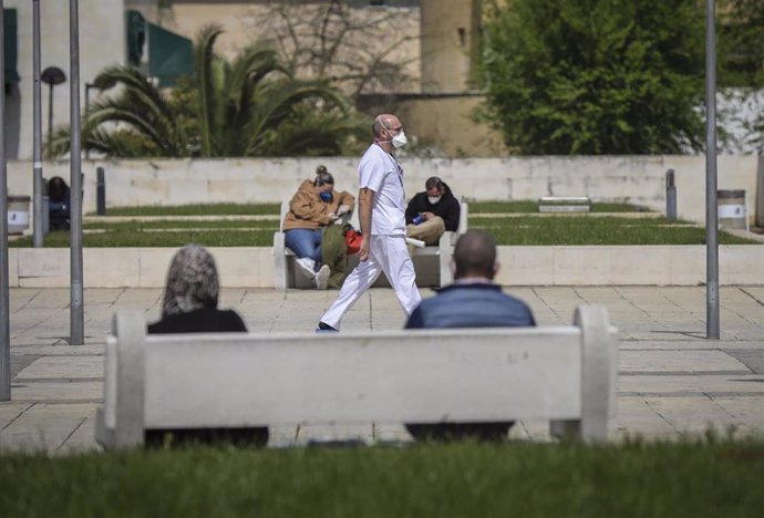
{"type": "MultiPolygon", "coordinates": [[[[4,27],[0,0],[0,27],[4,27]]],[[[0,401],[11,398],[11,321],[8,261],[8,172],[6,169],[6,49],[0,38],[0,401]]]]}

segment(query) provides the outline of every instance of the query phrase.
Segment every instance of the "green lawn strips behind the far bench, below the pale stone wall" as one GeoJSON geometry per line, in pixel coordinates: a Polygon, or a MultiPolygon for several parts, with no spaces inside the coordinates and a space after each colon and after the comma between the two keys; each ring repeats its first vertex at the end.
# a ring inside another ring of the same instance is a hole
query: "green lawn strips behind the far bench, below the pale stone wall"
{"type": "MultiPolygon", "coordinates": [[[[278,205],[188,205],[110,209],[110,216],[163,216],[149,221],[109,221],[109,217],[84,225],[85,247],[180,247],[197,242],[208,247],[269,247],[278,229],[278,205]],[[265,220],[182,219],[183,216],[271,215],[265,220]]],[[[685,221],[669,222],[659,217],[628,217],[640,211],[627,204],[592,204],[591,215],[538,215],[536,201],[479,201],[469,205],[469,228],[489,230],[504,246],[574,245],[703,245],[705,229],[685,221]],[[602,213],[622,213],[606,216],[602,213]],[[503,216],[506,215],[506,216],[503,216]]],[[[643,211],[642,211],[643,213],[643,211]]],[[[721,245],[756,244],[719,232],[721,245]]],[[[9,244],[31,247],[28,236],[9,244]]],[[[69,247],[69,232],[52,232],[47,247],[69,247]]]]}

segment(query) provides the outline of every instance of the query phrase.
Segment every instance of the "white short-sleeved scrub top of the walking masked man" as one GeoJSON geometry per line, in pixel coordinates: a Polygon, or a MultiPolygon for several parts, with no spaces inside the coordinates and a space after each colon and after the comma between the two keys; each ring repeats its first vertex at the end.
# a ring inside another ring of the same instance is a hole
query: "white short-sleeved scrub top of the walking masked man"
{"type": "Polygon", "coordinates": [[[359,186],[374,191],[371,234],[403,236],[406,232],[403,169],[394,156],[372,144],[358,165],[359,186]]]}

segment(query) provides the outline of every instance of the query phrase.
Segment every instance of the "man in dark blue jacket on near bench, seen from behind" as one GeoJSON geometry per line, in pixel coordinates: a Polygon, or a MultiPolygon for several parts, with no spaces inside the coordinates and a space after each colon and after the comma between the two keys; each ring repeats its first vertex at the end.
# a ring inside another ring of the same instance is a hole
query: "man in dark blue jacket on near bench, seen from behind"
{"type": "MultiPolygon", "coordinates": [[[[409,317],[406,329],[533,327],[536,320],[522,300],[502,292],[493,282],[498,272],[496,239],[483,230],[469,230],[456,241],[454,283],[423,300],[409,317]]],[[[500,441],[513,422],[407,424],[416,439],[500,441]]]]}

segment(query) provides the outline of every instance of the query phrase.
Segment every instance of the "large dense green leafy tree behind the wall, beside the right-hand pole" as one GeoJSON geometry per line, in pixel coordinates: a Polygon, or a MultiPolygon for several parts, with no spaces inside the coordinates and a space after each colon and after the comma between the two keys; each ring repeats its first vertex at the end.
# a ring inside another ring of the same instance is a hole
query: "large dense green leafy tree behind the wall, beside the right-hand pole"
{"type": "Polygon", "coordinates": [[[702,147],[695,0],[513,0],[486,17],[484,114],[520,154],[702,147]]]}

